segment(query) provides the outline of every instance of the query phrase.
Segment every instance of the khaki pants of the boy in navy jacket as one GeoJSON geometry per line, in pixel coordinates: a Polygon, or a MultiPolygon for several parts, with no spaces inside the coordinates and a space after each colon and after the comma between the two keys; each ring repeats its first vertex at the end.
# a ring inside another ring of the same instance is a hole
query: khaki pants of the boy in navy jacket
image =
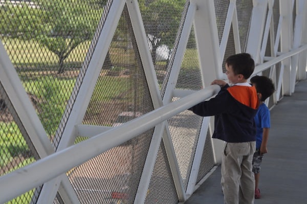
{"type": "Polygon", "coordinates": [[[221,168],[225,204],[254,203],[252,160],[255,150],[256,142],[225,143],[221,168]]]}

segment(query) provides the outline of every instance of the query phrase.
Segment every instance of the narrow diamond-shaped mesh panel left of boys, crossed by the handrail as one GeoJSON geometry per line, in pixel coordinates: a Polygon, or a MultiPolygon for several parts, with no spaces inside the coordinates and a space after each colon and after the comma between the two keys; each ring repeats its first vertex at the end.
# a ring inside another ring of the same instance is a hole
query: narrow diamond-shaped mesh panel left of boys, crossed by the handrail
{"type": "MultiPolygon", "coordinates": [[[[200,90],[203,88],[193,26],[191,28],[176,88],[190,90],[200,90]]],[[[175,100],[177,100],[177,98],[173,98],[173,101],[175,100]]],[[[200,136],[202,119],[203,118],[194,115],[191,111],[184,111],[168,120],[185,188],[187,188],[188,185],[193,161],[191,158],[193,158],[195,154],[196,144],[200,136]]]]}

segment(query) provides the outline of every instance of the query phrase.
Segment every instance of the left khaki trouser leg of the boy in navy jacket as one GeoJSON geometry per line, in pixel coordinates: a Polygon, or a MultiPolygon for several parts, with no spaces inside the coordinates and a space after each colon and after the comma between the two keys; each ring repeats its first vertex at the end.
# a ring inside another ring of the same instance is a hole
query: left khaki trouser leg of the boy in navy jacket
{"type": "MultiPolygon", "coordinates": [[[[221,185],[225,204],[239,203],[239,179],[241,177],[240,164],[242,156],[238,151],[239,143],[225,143],[222,156],[221,185]]],[[[245,148],[245,147],[243,147],[245,148]]],[[[240,149],[240,148],[239,148],[240,149]]]]}

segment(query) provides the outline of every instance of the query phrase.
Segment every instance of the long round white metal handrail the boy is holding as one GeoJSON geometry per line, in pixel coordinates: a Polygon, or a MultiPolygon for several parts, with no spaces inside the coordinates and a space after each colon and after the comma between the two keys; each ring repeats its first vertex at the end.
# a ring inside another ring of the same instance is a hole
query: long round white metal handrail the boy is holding
{"type": "MultiPolygon", "coordinates": [[[[305,50],[307,50],[307,44],[289,53],[272,58],[263,64],[259,64],[255,67],[253,75],[269,69],[272,65],[305,50]]],[[[214,96],[218,90],[220,90],[220,87],[217,85],[208,86],[119,127],[99,133],[95,137],[53,153],[28,166],[0,177],[0,203],[9,201],[20,194],[42,185],[48,180],[69,171],[73,167],[90,160],[108,149],[136,137],[136,135],[176,116],[189,107],[214,96]],[[108,142],[105,143],[105,141],[108,142]],[[41,171],[41,169],[44,169],[44,171],[41,171]]]]}

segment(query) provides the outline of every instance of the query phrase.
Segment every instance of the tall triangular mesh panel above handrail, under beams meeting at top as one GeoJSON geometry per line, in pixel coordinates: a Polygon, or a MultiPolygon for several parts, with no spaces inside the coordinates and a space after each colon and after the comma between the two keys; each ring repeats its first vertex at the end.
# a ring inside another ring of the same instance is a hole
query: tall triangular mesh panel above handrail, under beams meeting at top
{"type": "Polygon", "coordinates": [[[143,65],[125,7],[83,124],[118,126],[152,109],[143,65]]]}

